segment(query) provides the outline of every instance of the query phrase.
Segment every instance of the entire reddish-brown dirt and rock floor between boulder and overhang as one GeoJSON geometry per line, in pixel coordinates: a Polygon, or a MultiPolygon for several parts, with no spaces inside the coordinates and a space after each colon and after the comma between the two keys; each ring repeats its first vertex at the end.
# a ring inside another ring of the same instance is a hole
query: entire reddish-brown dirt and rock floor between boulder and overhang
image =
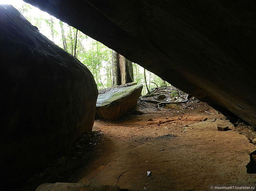
{"type": "Polygon", "coordinates": [[[250,127],[244,122],[234,126],[204,102],[169,111],[140,104],[117,121],[95,120],[91,135],[82,136],[71,153],[20,190],[44,182],[133,190],[207,190],[210,183],[254,183],[255,174],[246,168],[256,150],[250,127]],[[218,124],[229,130],[217,131],[218,124]]]}

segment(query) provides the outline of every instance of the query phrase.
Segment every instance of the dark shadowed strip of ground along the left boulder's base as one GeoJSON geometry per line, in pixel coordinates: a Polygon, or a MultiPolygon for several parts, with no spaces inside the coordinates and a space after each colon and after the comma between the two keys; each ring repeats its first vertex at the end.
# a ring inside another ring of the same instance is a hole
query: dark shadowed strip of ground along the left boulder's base
{"type": "Polygon", "coordinates": [[[100,131],[83,134],[66,155],[56,159],[48,168],[34,174],[14,190],[32,191],[43,183],[74,182],[72,175],[90,160],[90,153],[100,143],[102,136],[100,131]]]}

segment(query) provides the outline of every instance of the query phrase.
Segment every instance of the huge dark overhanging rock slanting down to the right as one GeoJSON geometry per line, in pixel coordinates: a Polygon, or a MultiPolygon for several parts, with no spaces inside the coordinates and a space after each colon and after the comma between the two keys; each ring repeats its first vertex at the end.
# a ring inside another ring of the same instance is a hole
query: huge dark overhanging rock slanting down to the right
{"type": "Polygon", "coordinates": [[[25,1],[256,125],[255,1],[25,1]]]}

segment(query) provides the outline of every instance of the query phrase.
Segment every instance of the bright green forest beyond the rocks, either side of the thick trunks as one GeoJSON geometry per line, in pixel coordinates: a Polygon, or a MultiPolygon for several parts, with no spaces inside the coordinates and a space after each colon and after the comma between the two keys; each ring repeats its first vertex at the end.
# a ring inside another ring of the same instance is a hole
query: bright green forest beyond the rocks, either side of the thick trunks
{"type": "MultiPolygon", "coordinates": [[[[36,26],[40,33],[82,62],[92,72],[98,89],[109,88],[114,85],[113,51],[110,48],[30,4],[23,2],[15,8],[32,25],[36,26]]],[[[132,70],[134,82],[143,84],[143,95],[147,94],[151,88],[170,85],[154,73],[133,62],[132,70]]]]}

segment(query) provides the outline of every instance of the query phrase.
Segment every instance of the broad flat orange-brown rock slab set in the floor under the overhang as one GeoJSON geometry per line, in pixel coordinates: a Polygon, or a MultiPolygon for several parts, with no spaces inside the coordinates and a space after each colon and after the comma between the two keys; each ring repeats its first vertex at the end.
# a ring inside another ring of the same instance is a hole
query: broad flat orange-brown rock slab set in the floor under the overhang
{"type": "MultiPolygon", "coordinates": [[[[154,138],[79,182],[154,191],[207,190],[211,183],[253,183],[255,175],[247,173],[246,165],[256,146],[236,131],[217,131],[219,122],[203,121],[187,126],[184,133],[173,133],[177,136],[154,138]]],[[[229,121],[223,123],[232,128],[229,121]]]]}

